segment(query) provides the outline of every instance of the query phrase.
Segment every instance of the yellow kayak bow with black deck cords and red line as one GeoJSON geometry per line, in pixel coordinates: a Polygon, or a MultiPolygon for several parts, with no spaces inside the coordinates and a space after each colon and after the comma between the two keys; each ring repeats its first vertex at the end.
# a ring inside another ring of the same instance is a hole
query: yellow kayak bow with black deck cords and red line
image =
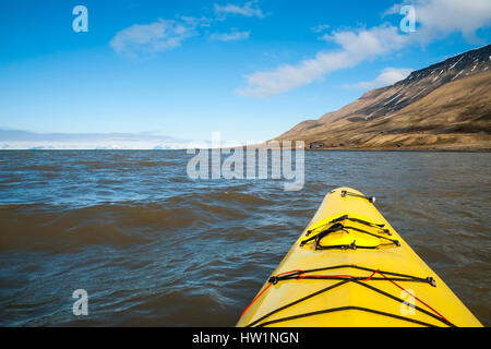
{"type": "Polygon", "coordinates": [[[482,326],[373,202],[330,192],[237,326],[482,326]]]}

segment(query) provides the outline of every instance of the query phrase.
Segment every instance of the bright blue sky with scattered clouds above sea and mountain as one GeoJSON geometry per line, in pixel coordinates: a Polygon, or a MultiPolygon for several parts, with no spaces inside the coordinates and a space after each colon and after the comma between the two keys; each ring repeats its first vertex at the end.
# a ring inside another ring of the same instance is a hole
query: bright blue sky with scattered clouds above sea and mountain
{"type": "Polygon", "coordinates": [[[489,44],[490,3],[5,1],[0,129],[268,140],[489,44]],[[77,4],[87,33],[72,28],[77,4]],[[399,28],[404,4],[415,33],[399,28]]]}

